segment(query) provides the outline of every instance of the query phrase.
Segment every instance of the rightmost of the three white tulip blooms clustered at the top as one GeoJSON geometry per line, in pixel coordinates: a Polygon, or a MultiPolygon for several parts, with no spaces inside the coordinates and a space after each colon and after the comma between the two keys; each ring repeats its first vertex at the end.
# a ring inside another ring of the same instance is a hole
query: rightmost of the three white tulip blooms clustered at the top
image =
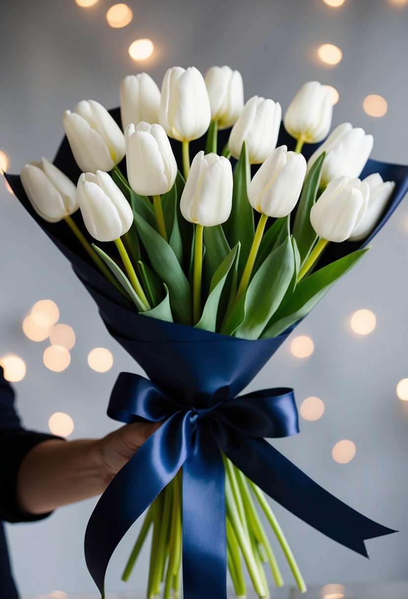
{"type": "Polygon", "coordinates": [[[212,66],[204,77],[211,106],[211,120],[218,129],[231,127],[243,108],[243,81],[229,66],[212,66]]]}

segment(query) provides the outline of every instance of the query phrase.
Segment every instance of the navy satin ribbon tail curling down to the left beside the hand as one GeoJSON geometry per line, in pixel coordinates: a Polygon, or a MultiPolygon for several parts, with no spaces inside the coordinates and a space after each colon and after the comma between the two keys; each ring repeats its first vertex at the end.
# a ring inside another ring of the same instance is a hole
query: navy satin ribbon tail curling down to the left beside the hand
{"type": "Polygon", "coordinates": [[[178,412],[145,441],[96,504],[85,533],[85,558],[102,597],[112,553],[133,522],[173,479],[190,449],[190,420],[178,412]]]}

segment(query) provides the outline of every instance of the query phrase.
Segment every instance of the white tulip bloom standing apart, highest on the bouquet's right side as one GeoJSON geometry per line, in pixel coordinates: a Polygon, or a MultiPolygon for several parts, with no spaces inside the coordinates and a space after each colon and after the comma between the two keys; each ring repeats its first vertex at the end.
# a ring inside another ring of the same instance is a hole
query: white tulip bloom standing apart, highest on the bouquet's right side
{"type": "Polygon", "coordinates": [[[332,116],[333,105],[328,87],[318,81],[308,81],[291,101],[284,125],[292,137],[314,144],[328,135],[332,116]]]}

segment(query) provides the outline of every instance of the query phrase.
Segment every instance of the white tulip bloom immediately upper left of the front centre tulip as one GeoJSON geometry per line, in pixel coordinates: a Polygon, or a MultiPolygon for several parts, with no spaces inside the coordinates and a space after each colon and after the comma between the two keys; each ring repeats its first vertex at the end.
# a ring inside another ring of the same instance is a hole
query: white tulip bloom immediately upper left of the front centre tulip
{"type": "Polygon", "coordinates": [[[162,195],[174,184],[177,163],[169,138],[161,125],[128,125],[126,141],[127,177],[140,195],[162,195]]]}

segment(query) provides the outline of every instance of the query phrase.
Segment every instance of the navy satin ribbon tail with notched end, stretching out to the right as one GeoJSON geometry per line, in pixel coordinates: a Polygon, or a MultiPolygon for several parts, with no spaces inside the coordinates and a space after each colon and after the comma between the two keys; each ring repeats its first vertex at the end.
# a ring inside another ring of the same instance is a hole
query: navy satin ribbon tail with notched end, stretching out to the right
{"type": "Polygon", "coordinates": [[[395,533],[363,516],[315,483],[261,438],[224,431],[221,446],[272,499],[334,541],[368,557],[364,540],[395,533]]]}

